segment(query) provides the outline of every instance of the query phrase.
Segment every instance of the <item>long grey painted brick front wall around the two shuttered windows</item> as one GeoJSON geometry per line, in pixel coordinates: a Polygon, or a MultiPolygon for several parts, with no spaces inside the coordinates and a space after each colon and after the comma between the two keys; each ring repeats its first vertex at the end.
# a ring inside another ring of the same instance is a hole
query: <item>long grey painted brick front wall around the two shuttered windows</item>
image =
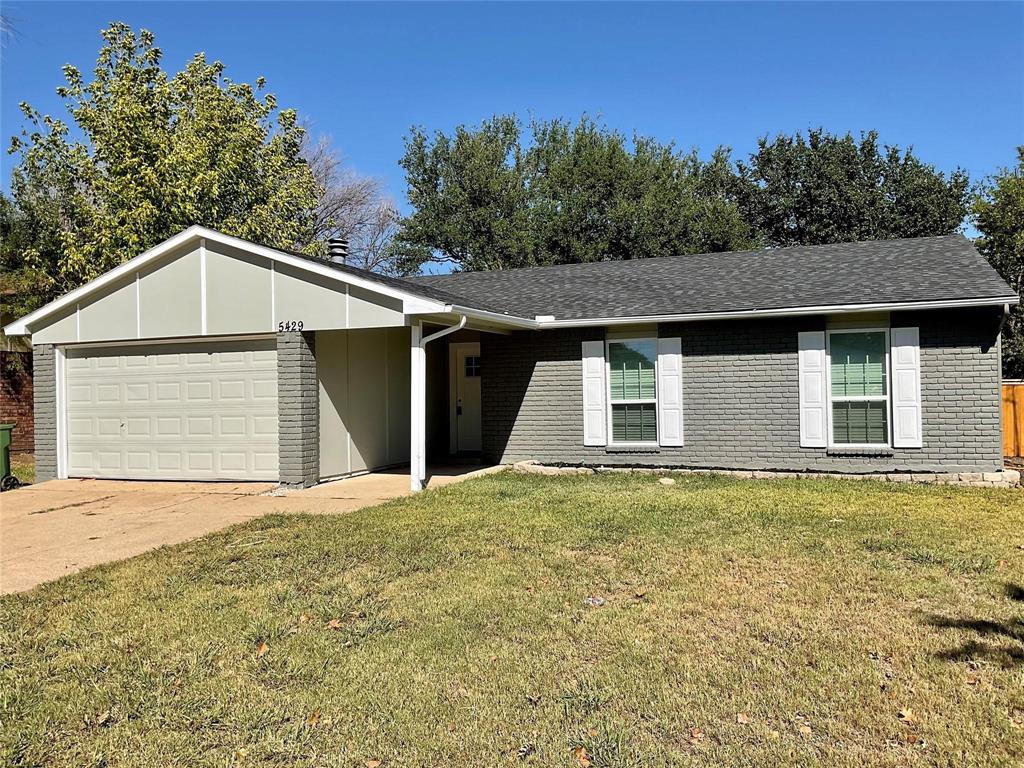
{"type": "Polygon", "coordinates": [[[580,345],[602,329],[484,335],[483,441],[490,461],[733,469],[994,471],[1001,467],[998,314],[894,313],[921,329],[925,446],[891,456],[800,446],[797,334],[824,317],[666,325],[683,345],[686,444],[622,452],[583,445],[580,345]]]}

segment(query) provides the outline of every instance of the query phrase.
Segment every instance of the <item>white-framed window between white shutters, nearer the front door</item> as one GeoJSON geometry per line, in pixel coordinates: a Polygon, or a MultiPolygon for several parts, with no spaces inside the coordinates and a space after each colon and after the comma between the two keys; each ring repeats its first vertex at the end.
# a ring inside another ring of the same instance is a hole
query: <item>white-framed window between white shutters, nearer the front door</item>
{"type": "Polygon", "coordinates": [[[608,403],[612,443],[657,443],[654,339],[608,342],[608,403]]]}

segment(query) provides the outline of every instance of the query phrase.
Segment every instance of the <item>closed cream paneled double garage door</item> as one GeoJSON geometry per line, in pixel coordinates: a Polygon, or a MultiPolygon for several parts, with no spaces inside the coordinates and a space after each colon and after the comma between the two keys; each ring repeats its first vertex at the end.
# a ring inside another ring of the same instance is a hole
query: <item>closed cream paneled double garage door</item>
{"type": "Polygon", "coordinates": [[[68,475],[278,479],[273,339],[69,349],[68,475]]]}

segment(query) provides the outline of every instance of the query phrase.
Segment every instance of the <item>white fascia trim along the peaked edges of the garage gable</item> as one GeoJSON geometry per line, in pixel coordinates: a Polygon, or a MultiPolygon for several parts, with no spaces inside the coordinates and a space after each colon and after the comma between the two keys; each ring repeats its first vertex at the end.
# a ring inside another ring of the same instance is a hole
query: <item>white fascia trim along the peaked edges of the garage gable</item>
{"type": "Polygon", "coordinates": [[[446,307],[446,305],[440,301],[432,301],[429,298],[424,298],[412,292],[402,291],[400,289],[392,288],[391,286],[385,286],[377,283],[376,281],[359,278],[356,274],[344,272],[339,269],[333,269],[330,266],[317,264],[315,262],[308,261],[307,259],[299,258],[298,256],[292,256],[291,254],[278,251],[273,248],[258,246],[254,243],[242,240],[241,238],[232,238],[229,234],[223,234],[222,232],[207,229],[204,226],[196,224],[189,226],[187,229],[183,229],[172,238],[168,238],[163,243],[154,246],[148,251],[139,254],[135,258],[129,259],[120,266],[104,272],[95,280],[86,283],[84,286],[76,288],[71,293],[65,294],[59,299],[55,299],[49,304],[40,307],[31,314],[27,314],[25,317],[14,321],[4,328],[3,331],[7,336],[27,336],[31,333],[29,326],[34,323],[43,319],[54,312],[58,312],[65,307],[73,306],[76,302],[91,296],[103,287],[120,280],[121,278],[124,278],[127,274],[144,268],[151,262],[156,261],[160,257],[166,255],[170,251],[173,251],[175,248],[185,245],[191,240],[206,240],[208,245],[210,243],[219,243],[220,245],[228,246],[230,248],[238,248],[239,250],[246,251],[247,253],[270,259],[271,262],[287,264],[301,271],[312,272],[313,274],[318,274],[324,278],[337,281],[338,283],[362,288],[371,293],[388,296],[393,299],[399,299],[402,301],[403,306],[406,302],[409,302],[410,306],[415,307],[417,312],[444,311],[446,307]]]}

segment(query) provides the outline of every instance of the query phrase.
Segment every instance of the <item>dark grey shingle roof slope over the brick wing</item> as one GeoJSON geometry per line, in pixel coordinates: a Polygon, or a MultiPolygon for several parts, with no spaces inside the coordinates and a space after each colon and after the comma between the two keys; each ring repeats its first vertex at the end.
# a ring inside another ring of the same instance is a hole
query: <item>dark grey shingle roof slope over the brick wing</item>
{"type": "Polygon", "coordinates": [[[400,281],[453,303],[559,321],[1006,298],[1015,294],[959,234],[666,256],[400,281]]]}

